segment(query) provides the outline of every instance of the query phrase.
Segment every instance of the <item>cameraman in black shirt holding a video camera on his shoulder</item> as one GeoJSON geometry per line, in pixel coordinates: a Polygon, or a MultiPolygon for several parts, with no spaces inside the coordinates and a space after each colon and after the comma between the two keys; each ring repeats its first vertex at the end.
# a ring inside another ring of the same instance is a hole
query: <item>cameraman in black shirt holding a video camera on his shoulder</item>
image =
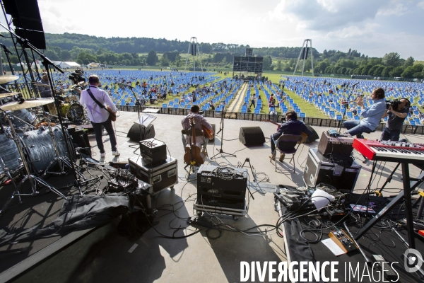
{"type": "Polygon", "coordinates": [[[382,137],[380,137],[382,141],[399,141],[402,125],[404,125],[406,116],[408,116],[409,107],[411,106],[409,100],[401,98],[401,100],[396,102],[394,105],[390,103],[390,109],[383,115],[383,118],[387,116],[388,118],[386,127],[384,127],[382,132],[382,137]],[[393,109],[393,106],[396,110],[393,109]]]}

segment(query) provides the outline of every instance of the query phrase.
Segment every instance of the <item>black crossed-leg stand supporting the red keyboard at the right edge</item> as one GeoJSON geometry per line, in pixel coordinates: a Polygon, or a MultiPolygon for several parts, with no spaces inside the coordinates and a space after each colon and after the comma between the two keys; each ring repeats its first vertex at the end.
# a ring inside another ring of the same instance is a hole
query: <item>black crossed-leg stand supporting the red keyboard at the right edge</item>
{"type": "MultiPolygon", "coordinates": [[[[362,229],[355,233],[355,240],[362,237],[368,230],[374,226],[379,219],[381,219],[387,212],[389,212],[396,204],[398,204],[403,198],[405,198],[405,209],[406,209],[406,229],[408,230],[408,243],[409,248],[415,248],[415,238],[413,233],[413,215],[412,215],[412,201],[411,192],[415,190],[418,185],[424,181],[424,172],[421,173],[418,178],[409,177],[409,163],[401,163],[402,165],[402,179],[404,182],[404,190],[387,204],[374,218],[368,221],[362,229]]],[[[399,166],[399,165],[398,165],[399,166]]],[[[418,166],[420,168],[420,166],[418,166]]]]}

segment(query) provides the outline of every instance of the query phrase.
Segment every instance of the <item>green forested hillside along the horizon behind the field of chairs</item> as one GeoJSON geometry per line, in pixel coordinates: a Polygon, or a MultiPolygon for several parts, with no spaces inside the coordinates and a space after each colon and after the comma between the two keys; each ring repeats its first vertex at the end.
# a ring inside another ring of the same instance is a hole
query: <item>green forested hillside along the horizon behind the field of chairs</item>
{"type": "MultiPolygon", "coordinates": [[[[6,33],[2,33],[8,36],[6,33]]],[[[189,41],[166,40],[147,37],[96,37],[76,33],[46,33],[49,59],[75,61],[79,64],[98,62],[107,65],[125,66],[184,66],[189,41]]],[[[13,42],[2,37],[1,43],[12,52],[13,42]]],[[[199,43],[201,62],[204,67],[232,67],[234,56],[245,54],[249,45],[218,43],[199,43]]],[[[254,56],[264,57],[264,70],[293,71],[301,47],[252,47],[254,56]]],[[[423,64],[414,64],[413,57],[403,59],[397,52],[384,54],[383,57],[368,57],[357,50],[312,51],[315,74],[368,75],[380,77],[403,77],[423,79],[423,64]]],[[[306,71],[312,69],[311,56],[305,64],[306,71]]],[[[192,59],[191,56],[189,59],[192,59]]],[[[11,56],[18,63],[16,55],[11,56]]],[[[199,62],[196,63],[199,66],[199,62]]],[[[299,67],[298,67],[299,69],[299,67]]]]}

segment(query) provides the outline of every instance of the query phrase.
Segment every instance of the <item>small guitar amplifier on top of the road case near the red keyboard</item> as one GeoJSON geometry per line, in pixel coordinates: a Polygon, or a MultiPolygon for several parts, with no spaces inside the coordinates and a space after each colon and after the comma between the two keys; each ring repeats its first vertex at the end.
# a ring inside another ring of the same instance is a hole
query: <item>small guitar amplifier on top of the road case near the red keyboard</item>
{"type": "Polygon", "coordinates": [[[353,137],[348,135],[339,135],[338,137],[331,137],[328,131],[322,132],[321,139],[319,139],[318,151],[322,155],[333,154],[336,156],[351,156],[353,151],[353,137]]]}

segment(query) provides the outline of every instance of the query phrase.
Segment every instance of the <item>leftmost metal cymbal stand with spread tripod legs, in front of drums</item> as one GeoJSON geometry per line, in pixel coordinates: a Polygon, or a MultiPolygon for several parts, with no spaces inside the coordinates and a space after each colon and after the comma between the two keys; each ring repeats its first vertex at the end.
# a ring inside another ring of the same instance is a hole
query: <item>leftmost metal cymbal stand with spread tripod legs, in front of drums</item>
{"type": "MultiPolygon", "coordinates": [[[[1,108],[2,110],[5,110],[5,109],[3,109],[4,106],[5,105],[3,105],[3,107],[1,108]]],[[[20,155],[20,158],[22,159],[23,169],[25,171],[24,175],[23,175],[23,179],[20,180],[18,188],[22,187],[23,183],[25,183],[25,181],[28,180],[28,182],[30,182],[31,189],[33,190],[33,192],[31,192],[30,194],[23,194],[23,193],[18,192],[18,190],[16,190],[16,193],[14,195],[18,195],[18,196],[21,196],[21,195],[26,195],[26,196],[38,195],[40,192],[37,191],[37,185],[42,185],[42,186],[47,187],[48,190],[52,190],[52,192],[59,195],[59,197],[63,197],[64,199],[66,199],[65,195],[62,194],[61,192],[59,192],[55,187],[52,187],[51,185],[46,183],[45,180],[42,180],[42,178],[39,178],[39,177],[32,175],[30,173],[30,168],[28,167],[28,163],[25,161],[25,155],[23,154],[22,146],[20,145],[20,142],[19,142],[20,139],[15,132],[15,128],[13,127],[11,119],[9,119],[9,118],[10,118],[10,116],[6,113],[6,120],[8,121],[10,129],[11,129],[12,139],[13,139],[13,141],[15,141],[15,144],[18,147],[18,153],[20,155]]]]}

